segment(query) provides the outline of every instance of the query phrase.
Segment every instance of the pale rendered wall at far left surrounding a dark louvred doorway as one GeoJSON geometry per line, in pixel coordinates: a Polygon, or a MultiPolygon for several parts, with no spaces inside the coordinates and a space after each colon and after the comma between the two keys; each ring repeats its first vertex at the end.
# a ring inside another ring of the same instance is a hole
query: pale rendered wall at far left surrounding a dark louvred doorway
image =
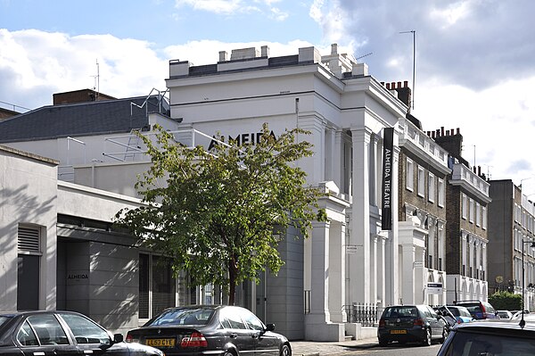
{"type": "Polygon", "coordinates": [[[41,231],[39,308],[56,307],[56,164],[0,146],[0,310],[17,310],[20,224],[41,231]]]}

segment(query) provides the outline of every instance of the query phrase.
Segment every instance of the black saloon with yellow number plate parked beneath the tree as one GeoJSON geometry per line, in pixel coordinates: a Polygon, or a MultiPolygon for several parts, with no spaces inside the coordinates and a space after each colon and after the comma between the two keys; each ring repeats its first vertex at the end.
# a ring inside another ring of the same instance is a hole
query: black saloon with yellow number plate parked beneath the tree
{"type": "Polygon", "coordinates": [[[169,355],[291,356],[286,337],[250,310],[227,305],[192,305],[163,310],[143,327],[128,331],[127,343],[158,347],[169,355]]]}

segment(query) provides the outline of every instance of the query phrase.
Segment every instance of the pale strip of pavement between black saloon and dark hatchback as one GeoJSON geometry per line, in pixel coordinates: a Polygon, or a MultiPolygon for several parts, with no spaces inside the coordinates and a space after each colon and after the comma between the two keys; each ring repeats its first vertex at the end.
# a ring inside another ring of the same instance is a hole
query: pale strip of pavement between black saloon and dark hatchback
{"type": "Polygon", "coordinates": [[[325,356],[371,349],[379,346],[377,337],[341,342],[291,341],[293,356],[325,356]]]}

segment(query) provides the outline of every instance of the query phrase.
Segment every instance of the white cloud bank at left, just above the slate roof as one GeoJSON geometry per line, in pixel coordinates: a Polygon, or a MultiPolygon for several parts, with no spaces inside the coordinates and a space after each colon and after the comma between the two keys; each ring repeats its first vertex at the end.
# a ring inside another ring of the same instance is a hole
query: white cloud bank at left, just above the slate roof
{"type": "Polygon", "coordinates": [[[35,108],[51,104],[53,93],[95,86],[107,95],[148,95],[165,89],[168,62],[145,41],[111,35],[70,37],[37,29],[0,29],[0,97],[35,108]]]}

